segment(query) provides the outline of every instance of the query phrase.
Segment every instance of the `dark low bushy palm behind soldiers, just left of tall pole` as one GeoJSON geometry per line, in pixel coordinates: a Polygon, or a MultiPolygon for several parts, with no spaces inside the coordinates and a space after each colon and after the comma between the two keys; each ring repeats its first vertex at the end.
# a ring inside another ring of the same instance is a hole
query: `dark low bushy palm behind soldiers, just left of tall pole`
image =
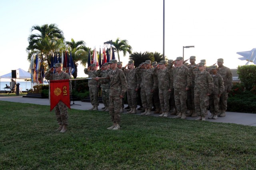
{"type": "Polygon", "coordinates": [[[148,51],[144,53],[141,53],[141,52],[132,53],[129,59],[134,61],[134,66],[136,67],[138,67],[141,63],[144,63],[146,60],[150,60],[151,62],[155,61],[154,54],[148,51]]]}

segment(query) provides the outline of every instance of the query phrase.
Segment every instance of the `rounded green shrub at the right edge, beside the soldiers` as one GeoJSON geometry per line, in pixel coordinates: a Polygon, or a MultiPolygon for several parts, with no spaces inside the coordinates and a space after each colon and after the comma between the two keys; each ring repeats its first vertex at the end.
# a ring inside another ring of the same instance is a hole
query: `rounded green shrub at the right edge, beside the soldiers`
{"type": "Polygon", "coordinates": [[[256,86],[256,65],[238,66],[237,74],[246,90],[256,86]]]}

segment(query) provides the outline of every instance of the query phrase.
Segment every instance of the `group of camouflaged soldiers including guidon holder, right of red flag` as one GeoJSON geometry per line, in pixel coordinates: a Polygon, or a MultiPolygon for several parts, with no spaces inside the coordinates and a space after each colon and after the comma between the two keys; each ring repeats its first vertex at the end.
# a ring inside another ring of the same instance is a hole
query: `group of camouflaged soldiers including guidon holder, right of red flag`
{"type": "Polygon", "coordinates": [[[232,88],[232,73],[218,59],[217,65],[206,66],[206,60],[196,64],[191,56],[190,64],[183,57],[175,60],[141,63],[137,68],[134,61],[111,60],[96,70],[95,65],[85,68],[88,74],[92,109],[98,110],[98,89],[102,88],[102,111],[109,111],[113,125],[107,129],[120,129],[120,113],[124,112],[124,97],[127,96],[128,114],[140,113],[160,117],[176,115],[174,118],[197,117],[204,121],[225,117],[228,92],[232,88]],[[140,105],[139,108],[138,105],[140,105]]]}

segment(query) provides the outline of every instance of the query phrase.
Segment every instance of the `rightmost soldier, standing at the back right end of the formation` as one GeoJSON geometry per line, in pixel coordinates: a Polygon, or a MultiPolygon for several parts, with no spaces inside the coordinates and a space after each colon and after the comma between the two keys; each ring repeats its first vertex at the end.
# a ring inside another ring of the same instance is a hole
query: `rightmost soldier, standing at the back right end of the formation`
{"type": "Polygon", "coordinates": [[[228,93],[231,91],[233,86],[233,78],[232,78],[232,72],[231,70],[223,65],[224,60],[218,59],[217,64],[219,66],[218,68],[218,74],[220,74],[224,81],[224,87],[225,90],[220,96],[220,106],[219,106],[219,113],[218,116],[225,117],[226,116],[226,109],[227,109],[227,100],[228,100],[228,93]]]}

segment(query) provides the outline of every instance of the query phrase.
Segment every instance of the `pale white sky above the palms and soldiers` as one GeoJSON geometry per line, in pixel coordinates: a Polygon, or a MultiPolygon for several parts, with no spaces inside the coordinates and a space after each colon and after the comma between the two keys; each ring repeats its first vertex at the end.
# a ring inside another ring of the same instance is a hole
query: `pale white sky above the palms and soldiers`
{"type": "MultiPolygon", "coordinates": [[[[224,66],[246,64],[236,52],[256,48],[255,4],[252,0],[165,0],[165,56],[196,56],[206,65],[224,59],[224,66]]],[[[55,23],[66,41],[86,47],[126,39],[132,52],[163,53],[163,0],[0,0],[0,76],[28,71],[28,36],[33,25],[55,23]]],[[[117,54],[115,54],[117,56],[117,54]]],[[[128,63],[129,54],[120,60],[128,63]]],[[[124,65],[125,65],[124,64],[124,65]]],[[[78,77],[86,77],[78,66],[78,77]]],[[[4,81],[4,80],[1,80],[4,81]]],[[[9,80],[7,80],[9,81],[9,80]]]]}

